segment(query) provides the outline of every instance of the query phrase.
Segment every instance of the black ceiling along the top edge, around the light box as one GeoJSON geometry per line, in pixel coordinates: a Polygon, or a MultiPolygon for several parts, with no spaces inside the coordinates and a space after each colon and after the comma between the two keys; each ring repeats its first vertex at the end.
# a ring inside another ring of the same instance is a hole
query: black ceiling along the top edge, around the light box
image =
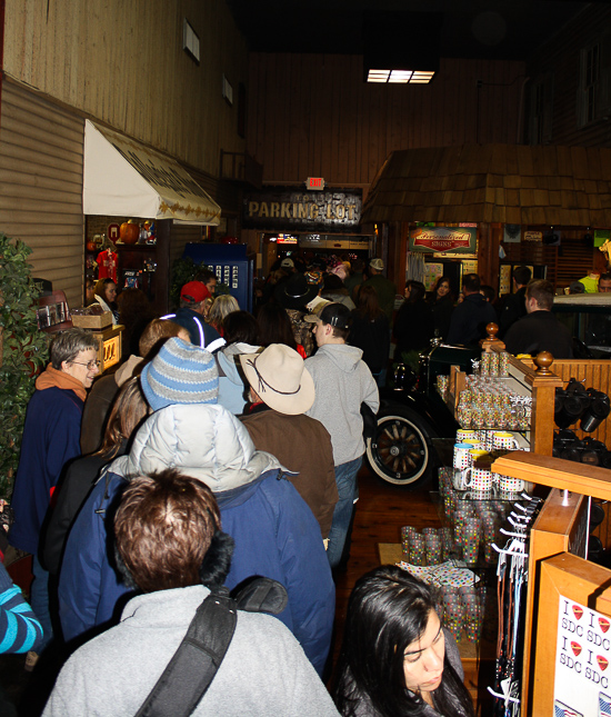
{"type": "MultiPolygon", "coordinates": [[[[441,57],[513,60],[528,59],[534,48],[589,4],[565,0],[227,2],[252,51],[361,54],[365,12],[441,12],[441,57]]],[[[404,38],[409,42],[409,23],[404,38]]]]}

